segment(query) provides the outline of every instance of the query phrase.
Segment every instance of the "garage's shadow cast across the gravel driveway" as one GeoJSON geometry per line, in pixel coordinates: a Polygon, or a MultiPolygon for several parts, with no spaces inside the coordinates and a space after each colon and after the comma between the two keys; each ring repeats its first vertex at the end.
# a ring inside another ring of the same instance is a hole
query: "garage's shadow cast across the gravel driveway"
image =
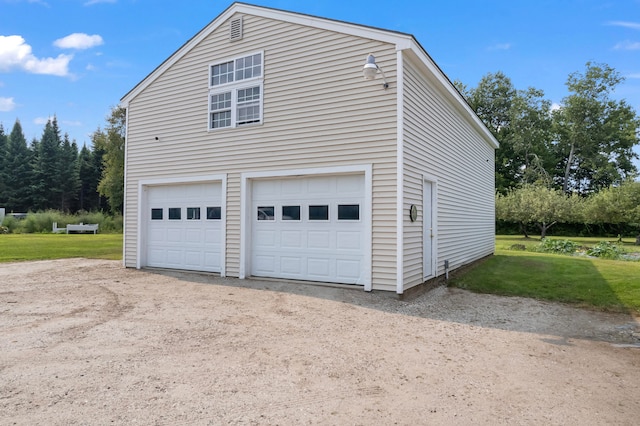
{"type": "MultiPolygon", "coordinates": [[[[482,265],[481,265],[482,266],[482,265]]],[[[480,294],[459,288],[436,287],[410,300],[390,292],[364,292],[359,286],[337,287],[318,283],[267,279],[220,278],[213,274],[147,269],[147,273],[210,285],[254,289],[331,300],[389,314],[409,315],[476,327],[541,334],[556,345],[569,339],[589,339],[639,345],[640,324],[627,313],[606,313],[562,303],[525,297],[480,294]]],[[[587,271],[594,277],[596,271],[587,271]]],[[[473,273],[473,272],[467,272],[473,273]]],[[[596,278],[597,279],[597,278],[596,278]]],[[[384,324],[381,324],[384,327],[384,324]]],[[[410,330],[403,330],[410,333],[410,330]]]]}

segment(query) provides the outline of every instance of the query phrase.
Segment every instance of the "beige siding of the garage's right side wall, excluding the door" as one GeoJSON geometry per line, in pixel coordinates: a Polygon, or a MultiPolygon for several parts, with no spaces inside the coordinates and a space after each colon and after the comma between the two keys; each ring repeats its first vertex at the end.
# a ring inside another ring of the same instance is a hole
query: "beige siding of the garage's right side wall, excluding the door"
{"type": "Polygon", "coordinates": [[[436,181],[436,276],[495,249],[494,148],[451,94],[404,55],[404,289],[423,282],[422,183],[436,181]],[[460,108],[460,109],[458,109],[460,108]],[[418,206],[411,222],[409,207],[418,206]]]}

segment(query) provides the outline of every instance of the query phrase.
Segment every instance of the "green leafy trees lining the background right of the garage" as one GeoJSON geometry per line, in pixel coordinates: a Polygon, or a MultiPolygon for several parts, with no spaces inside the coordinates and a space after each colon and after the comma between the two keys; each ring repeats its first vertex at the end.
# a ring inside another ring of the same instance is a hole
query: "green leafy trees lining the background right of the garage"
{"type": "MultiPolygon", "coordinates": [[[[500,143],[496,150],[496,219],[528,236],[556,223],[640,228],[640,182],[633,151],[640,119],[613,94],[624,78],[588,62],[569,75],[560,105],[532,87],[516,89],[504,73],[478,86],[454,84],[500,143]]],[[[640,236],[638,237],[640,244],[640,236]]]]}

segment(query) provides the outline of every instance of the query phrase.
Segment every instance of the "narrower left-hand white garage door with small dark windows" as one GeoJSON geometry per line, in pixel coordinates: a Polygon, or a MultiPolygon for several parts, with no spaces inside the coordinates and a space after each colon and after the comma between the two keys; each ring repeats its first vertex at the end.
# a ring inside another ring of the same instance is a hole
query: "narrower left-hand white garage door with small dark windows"
{"type": "Polygon", "coordinates": [[[220,272],[220,183],[147,187],[146,266],[220,272]]]}

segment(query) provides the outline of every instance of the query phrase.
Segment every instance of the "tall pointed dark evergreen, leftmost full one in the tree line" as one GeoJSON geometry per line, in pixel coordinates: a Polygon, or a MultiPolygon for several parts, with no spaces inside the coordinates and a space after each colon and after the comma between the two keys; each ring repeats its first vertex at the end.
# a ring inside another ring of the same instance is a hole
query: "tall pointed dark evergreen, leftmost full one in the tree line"
{"type": "Polygon", "coordinates": [[[20,120],[16,120],[9,135],[5,158],[6,208],[8,212],[26,212],[30,207],[30,185],[32,180],[31,151],[22,131],[20,120]]]}

